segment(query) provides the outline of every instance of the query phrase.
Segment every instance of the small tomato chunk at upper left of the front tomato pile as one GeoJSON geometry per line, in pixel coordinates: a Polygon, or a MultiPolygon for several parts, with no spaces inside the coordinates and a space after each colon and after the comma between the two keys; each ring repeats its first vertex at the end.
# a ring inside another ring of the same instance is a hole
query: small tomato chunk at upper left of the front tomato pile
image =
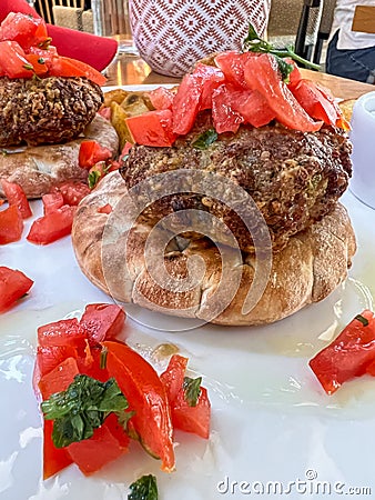
{"type": "Polygon", "coordinates": [[[42,347],[71,346],[85,348],[85,332],[77,318],[54,321],[38,328],[38,343],[42,347]]]}

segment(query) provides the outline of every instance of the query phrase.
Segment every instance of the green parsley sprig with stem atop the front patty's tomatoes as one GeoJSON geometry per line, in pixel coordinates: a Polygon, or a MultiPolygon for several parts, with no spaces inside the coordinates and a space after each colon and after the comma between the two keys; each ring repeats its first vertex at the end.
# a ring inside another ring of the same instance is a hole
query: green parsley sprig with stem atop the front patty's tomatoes
{"type": "Polygon", "coordinates": [[[291,58],[296,62],[300,62],[311,69],[320,70],[321,67],[318,64],[314,64],[311,61],[297,56],[292,47],[286,47],[283,49],[277,49],[273,43],[268,43],[259,37],[255,31],[255,28],[252,23],[249,23],[249,33],[247,37],[243,41],[243,51],[244,52],[259,52],[259,53],[272,53],[275,56],[280,72],[282,73],[283,80],[285,82],[288,81],[288,77],[293,71],[293,66],[287,63],[283,58],[291,58]]]}

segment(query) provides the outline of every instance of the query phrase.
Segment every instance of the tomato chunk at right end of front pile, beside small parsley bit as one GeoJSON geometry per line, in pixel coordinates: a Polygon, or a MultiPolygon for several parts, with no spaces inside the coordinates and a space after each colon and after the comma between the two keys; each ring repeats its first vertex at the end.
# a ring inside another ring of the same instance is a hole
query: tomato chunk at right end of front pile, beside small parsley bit
{"type": "Polygon", "coordinates": [[[183,387],[186,366],[186,358],[173,354],[166,370],[160,376],[171,404],[172,423],[175,429],[207,439],[211,419],[207,391],[201,387],[196,404],[189,404],[183,387]]]}

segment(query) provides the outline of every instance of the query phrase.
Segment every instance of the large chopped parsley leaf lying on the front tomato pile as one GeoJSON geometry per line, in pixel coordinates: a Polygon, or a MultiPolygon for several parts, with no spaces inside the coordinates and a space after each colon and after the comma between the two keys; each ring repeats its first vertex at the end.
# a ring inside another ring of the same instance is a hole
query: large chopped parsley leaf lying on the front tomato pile
{"type": "Polygon", "coordinates": [[[109,413],[128,408],[126,398],[112,378],[100,382],[78,374],[65,391],[41,403],[45,420],[54,420],[52,440],[57,448],[89,439],[109,413]]]}

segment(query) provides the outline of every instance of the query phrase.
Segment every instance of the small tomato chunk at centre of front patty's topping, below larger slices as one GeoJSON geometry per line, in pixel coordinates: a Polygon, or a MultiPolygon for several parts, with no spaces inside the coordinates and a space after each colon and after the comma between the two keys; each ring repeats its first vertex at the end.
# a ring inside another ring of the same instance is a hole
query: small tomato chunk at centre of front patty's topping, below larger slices
{"type": "Polygon", "coordinates": [[[229,90],[222,84],[212,94],[212,119],[217,133],[236,132],[244,118],[229,104],[229,90]]]}

